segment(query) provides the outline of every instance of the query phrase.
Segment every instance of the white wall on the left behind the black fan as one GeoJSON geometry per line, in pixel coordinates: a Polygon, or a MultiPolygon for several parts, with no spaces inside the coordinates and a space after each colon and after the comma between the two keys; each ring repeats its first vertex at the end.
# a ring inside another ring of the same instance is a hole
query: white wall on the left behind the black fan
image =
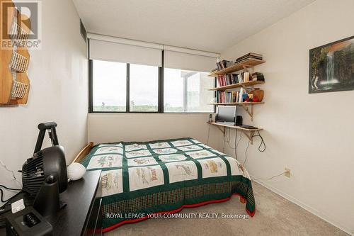
{"type": "MultiPolygon", "coordinates": [[[[9,169],[21,169],[33,154],[38,123],[57,122],[67,162],[86,144],[87,70],[86,44],[74,4],[71,0],[42,1],[42,50],[30,51],[28,104],[0,107],[0,159],[9,169]]],[[[21,179],[21,174],[17,176],[21,179]]],[[[1,166],[0,184],[18,187],[1,166]]],[[[6,192],[6,198],[10,194],[6,192]]]]}

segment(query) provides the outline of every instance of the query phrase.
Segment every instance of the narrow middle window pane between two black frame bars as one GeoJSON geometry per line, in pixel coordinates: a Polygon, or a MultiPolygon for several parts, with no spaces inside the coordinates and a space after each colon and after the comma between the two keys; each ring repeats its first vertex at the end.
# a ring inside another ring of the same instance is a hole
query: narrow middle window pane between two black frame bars
{"type": "Polygon", "coordinates": [[[130,64],[130,111],[157,112],[159,67],[130,64]]]}

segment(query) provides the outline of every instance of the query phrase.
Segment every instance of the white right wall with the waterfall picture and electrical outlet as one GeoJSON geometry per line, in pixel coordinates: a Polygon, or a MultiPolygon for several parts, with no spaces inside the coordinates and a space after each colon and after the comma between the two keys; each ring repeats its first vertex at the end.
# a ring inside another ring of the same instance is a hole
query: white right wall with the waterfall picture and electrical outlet
{"type": "MultiPolygon", "coordinates": [[[[353,9],[353,0],[318,0],[222,52],[222,58],[230,60],[247,52],[261,53],[266,60],[256,67],[265,74],[266,82],[260,86],[265,104],[256,108],[253,124],[265,129],[261,134],[267,150],[258,152],[258,141],[249,148],[250,174],[266,178],[289,167],[290,179],[261,182],[350,233],[354,91],[308,94],[308,79],[309,49],[353,36],[353,9]]],[[[245,149],[243,139],[241,160],[245,149]]]]}

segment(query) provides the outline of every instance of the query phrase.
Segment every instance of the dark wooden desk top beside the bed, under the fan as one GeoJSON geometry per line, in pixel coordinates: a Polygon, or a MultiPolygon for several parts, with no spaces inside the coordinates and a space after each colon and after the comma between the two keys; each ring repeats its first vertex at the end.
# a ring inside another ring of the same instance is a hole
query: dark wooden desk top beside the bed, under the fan
{"type": "MultiPolygon", "coordinates": [[[[101,171],[86,172],[78,181],[71,181],[60,200],[67,206],[56,215],[47,217],[52,224],[54,235],[101,235],[101,171]]],[[[13,201],[27,198],[19,195],[13,201]]],[[[26,200],[25,200],[26,202],[26,200]]],[[[0,235],[6,235],[5,229],[0,235]]]]}

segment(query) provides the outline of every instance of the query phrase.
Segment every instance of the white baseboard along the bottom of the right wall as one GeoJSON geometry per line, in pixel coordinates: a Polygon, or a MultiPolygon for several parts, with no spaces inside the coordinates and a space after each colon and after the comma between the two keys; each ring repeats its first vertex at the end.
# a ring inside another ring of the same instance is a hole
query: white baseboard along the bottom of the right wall
{"type": "MultiPolygon", "coordinates": [[[[251,176],[251,179],[256,179],[256,178],[254,176],[251,176]]],[[[283,198],[291,201],[292,203],[295,203],[297,206],[300,206],[304,210],[309,211],[310,213],[316,215],[317,217],[319,217],[322,220],[330,223],[331,225],[333,225],[335,227],[338,227],[338,229],[343,230],[348,235],[354,236],[354,231],[352,231],[351,229],[348,229],[346,227],[343,227],[340,224],[334,222],[335,220],[331,220],[326,215],[322,215],[321,213],[319,213],[318,210],[312,208],[311,206],[307,206],[307,204],[302,203],[301,201],[297,200],[296,198],[293,198],[292,196],[288,195],[287,193],[283,193],[279,189],[276,189],[276,188],[274,188],[272,186],[269,186],[268,184],[265,184],[265,182],[263,182],[263,181],[259,181],[259,180],[253,180],[253,181],[255,181],[258,184],[261,184],[262,186],[264,186],[265,188],[269,189],[270,191],[273,191],[273,193],[277,193],[279,196],[282,196],[283,198]]]]}

